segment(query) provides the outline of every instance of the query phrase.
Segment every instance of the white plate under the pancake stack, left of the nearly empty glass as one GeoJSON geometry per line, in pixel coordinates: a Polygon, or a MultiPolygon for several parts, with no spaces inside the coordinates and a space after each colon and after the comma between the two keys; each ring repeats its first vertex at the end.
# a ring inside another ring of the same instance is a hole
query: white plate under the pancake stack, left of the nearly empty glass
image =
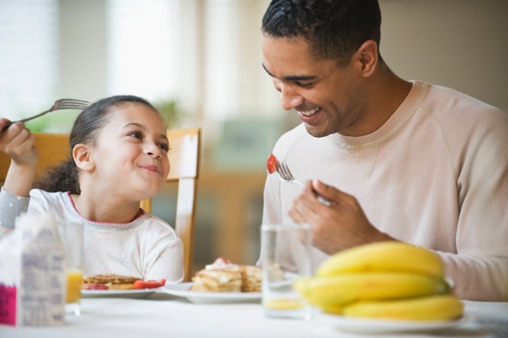
{"type": "Polygon", "coordinates": [[[159,291],[185,297],[192,303],[259,303],[260,292],[198,292],[188,291],[193,283],[166,284],[159,291]]]}

